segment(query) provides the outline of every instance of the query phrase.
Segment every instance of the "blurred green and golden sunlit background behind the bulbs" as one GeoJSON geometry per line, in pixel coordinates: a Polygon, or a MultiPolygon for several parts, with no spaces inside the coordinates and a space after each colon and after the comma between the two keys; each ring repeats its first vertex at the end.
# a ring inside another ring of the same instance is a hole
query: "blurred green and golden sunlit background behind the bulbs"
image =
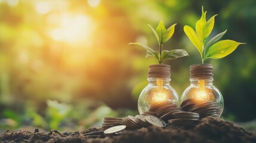
{"type": "Polygon", "coordinates": [[[141,42],[157,48],[147,26],[178,23],[165,49],[184,48],[189,57],[171,65],[171,85],[181,96],[189,66],[201,63],[183,32],[195,27],[201,7],[214,14],[211,36],[245,42],[214,66],[214,85],[224,97],[222,118],[255,128],[256,1],[190,0],[0,0],[0,132],[6,129],[82,130],[104,116],[137,114],[147,85],[141,42]],[[244,123],[245,122],[245,123],[244,123]]]}

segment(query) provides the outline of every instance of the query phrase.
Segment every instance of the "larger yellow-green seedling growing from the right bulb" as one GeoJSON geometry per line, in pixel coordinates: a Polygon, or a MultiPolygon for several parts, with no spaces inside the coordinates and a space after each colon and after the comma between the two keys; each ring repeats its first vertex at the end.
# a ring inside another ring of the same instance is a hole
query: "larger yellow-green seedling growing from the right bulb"
{"type": "Polygon", "coordinates": [[[212,32],[212,29],[214,28],[214,18],[217,16],[217,14],[213,15],[208,21],[206,21],[206,12],[207,11],[203,11],[202,7],[202,16],[198,21],[196,21],[196,32],[192,29],[192,27],[184,26],[184,32],[186,33],[187,37],[200,52],[202,64],[207,58],[219,59],[226,57],[235,51],[238,45],[245,44],[232,40],[218,41],[227,32],[227,30],[219,33],[214,38],[206,42],[208,36],[212,32]]]}

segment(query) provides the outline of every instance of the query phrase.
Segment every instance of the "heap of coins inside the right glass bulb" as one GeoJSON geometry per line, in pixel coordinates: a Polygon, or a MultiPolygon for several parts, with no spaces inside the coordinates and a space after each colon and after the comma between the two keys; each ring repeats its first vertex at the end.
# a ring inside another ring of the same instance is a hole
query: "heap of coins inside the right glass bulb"
{"type": "Polygon", "coordinates": [[[196,98],[190,98],[181,103],[181,108],[184,111],[195,112],[200,115],[200,119],[212,116],[218,117],[220,115],[220,106],[214,101],[203,101],[196,98]]]}

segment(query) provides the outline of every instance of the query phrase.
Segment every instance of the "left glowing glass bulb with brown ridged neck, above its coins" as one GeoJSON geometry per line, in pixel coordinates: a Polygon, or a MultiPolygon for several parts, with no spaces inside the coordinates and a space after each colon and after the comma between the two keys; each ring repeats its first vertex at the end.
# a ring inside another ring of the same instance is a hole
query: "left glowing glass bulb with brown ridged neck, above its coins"
{"type": "Polygon", "coordinates": [[[140,114],[148,111],[150,104],[164,100],[179,105],[177,92],[169,85],[171,71],[170,66],[164,64],[149,66],[149,84],[141,91],[138,98],[138,111],[140,114]]]}

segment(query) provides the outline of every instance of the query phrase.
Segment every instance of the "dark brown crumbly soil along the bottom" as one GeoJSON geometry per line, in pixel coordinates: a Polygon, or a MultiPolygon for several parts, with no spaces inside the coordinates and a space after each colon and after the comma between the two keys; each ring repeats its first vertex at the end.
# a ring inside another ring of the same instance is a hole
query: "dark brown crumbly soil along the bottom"
{"type": "Polygon", "coordinates": [[[29,132],[20,130],[0,135],[0,142],[256,142],[256,134],[231,122],[213,117],[206,117],[193,129],[158,128],[150,126],[137,130],[125,130],[119,135],[104,135],[101,128],[92,127],[82,132],[59,133],[51,130],[50,133],[29,132]],[[91,132],[96,132],[92,133],[91,132]],[[89,134],[88,134],[89,133],[89,134]]]}

